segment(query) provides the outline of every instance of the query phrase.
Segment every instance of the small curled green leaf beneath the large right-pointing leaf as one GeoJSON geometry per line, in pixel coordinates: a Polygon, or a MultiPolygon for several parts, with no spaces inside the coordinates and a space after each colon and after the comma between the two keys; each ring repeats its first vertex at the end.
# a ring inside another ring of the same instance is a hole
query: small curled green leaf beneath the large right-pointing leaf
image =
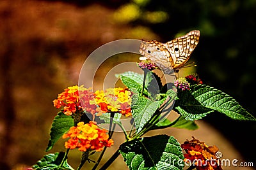
{"type": "Polygon", "coordinates": [[[164,129],[166,127],[177,127],[180,129],[188,129],[188,130],[196,130],[198,129],[198,125],[195,124],[194,121],[186,120],[184,117],[180,116],[173,122],[170,122],[167,118],[164,119],[162,122],[158,122],[153,129],[164,129]]]}

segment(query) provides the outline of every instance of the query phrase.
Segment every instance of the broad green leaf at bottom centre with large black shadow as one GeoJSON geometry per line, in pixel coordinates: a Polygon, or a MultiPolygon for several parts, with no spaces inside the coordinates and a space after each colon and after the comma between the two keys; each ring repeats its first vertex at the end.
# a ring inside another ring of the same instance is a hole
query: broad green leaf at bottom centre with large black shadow
{"type": "Polygon", "coordinates": [[[120,153],[129,169],[172,169],[184,167],[178,141],[167,135],[134,139],[120,145],[120,153]]]}

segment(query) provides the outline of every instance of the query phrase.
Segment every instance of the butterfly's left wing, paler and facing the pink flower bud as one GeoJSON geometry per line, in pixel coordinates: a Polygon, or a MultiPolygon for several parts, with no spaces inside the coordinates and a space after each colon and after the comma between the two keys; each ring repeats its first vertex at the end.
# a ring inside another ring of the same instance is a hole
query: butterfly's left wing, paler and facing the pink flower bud
{"type": "Polygon", "coordinates": [[[164,74],[173,73],[173,69],[169,61],[171,54],[163,43],[156,40],[141,40],[140,53],[147,59],[152,60],[152,62],[155,62],[164,74]]]}

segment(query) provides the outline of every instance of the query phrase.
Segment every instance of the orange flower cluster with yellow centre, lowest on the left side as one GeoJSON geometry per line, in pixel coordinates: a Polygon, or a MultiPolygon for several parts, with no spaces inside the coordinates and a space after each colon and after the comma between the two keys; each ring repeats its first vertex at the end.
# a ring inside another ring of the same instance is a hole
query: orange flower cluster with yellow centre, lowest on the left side
{"type": "Polygon", "coordinates": [[[109,139],[105,129],[99,129],[95,122],[90,121],[89,124],[79,122],[76,127],[70,127],[62,138],[70,138],[65,142],[65,148],[78,148],[81,152],[86,150],[102,151],[104,146],[110,147],[114,145],[114,141],[109,139]]]}

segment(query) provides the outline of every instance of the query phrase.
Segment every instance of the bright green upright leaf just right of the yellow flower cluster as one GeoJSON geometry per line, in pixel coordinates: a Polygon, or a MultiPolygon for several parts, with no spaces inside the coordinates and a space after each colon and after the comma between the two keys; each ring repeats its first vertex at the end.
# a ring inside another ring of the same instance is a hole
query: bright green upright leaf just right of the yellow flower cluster
{"type": "Polygon", "coordinates": [[[159,108],[163,101],[150,101],[144,96],[138,96],[134,94],[132,96],[132,117],[134,118],[134,124],[136,127],[136,133],[140,132],[143,126],[150,120],[152,115],[159,108]]]}

